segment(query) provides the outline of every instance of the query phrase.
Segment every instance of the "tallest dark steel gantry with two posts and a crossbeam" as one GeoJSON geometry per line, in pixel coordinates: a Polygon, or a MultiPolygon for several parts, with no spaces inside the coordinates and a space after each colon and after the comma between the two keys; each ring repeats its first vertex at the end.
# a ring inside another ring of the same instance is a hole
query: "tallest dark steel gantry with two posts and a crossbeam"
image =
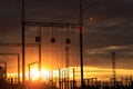
{"type": "Polygon", "coordinates": [[[83,38],[82,38],[82,27],[83,27],[83,6],[82,0],[80,0],[80,17],[79,17],[79,23],[53,23],[53,22],[32,22],[25,20],[25,6],[24,0],[22,0],[22,14],[21,14],[21,29],[22,29],[22,81],[24,83],[24,30],[25,26],[40,26],[40,27],[71,27],[71,28],[79,28],[80,30],[80,66],[81,66],[81,88],[84,89],[84,82],[83,82],[83,38]]]}

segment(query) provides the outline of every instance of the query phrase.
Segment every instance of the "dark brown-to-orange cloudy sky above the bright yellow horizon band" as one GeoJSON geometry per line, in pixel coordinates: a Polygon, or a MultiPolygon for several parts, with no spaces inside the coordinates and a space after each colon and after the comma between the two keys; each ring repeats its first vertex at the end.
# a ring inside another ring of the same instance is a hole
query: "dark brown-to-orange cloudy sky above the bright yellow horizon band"
{"type": "MultiPolygon", "coordinates": [[[[0,1],[0,43],[21,42],[21,0],[0,1]]],[[[79,22],[79,0],[25,0],[25,20],[79,22]]],[[[111,51],[116,52],[117,69],[133,69],[133,0],[83,0],[84,66],[112,68],[111,51]]],[[[42,27],[42,67],[65,66],[66,28],[42,27]],[[50,38],[57,42],[51,44],[50,38]]],[[[34,43],[35,27],[25,27],[25,42],[34,43]]],[[[79,31],[70,28],[70,66],[80,66],[79,31]]],[[[0,47],[0,52],[21,52],[19,47],[0,47]]],[[[25,49],[25,65],[38,61],[38,47],[25,49]]],[[[0,56],[16,70],[17,57],[0,56]],[[9,60],[11,59],[11,60],[9,60]]]]}

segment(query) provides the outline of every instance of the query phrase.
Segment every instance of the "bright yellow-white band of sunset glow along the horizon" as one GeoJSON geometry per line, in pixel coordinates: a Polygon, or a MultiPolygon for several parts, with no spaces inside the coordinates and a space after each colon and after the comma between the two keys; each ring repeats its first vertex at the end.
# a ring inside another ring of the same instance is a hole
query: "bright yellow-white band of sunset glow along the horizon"
{"type": "MultiPolygon", "coordinates": [[[[75,79],[80,79],[80,67],[70,67],[69,68],[69,78],[73,78],[73,69],[75,71],[75,79]]],[[[63,73],[64,69],[61,69],[61,73],[63,73]]],[[[53,75],[51,75],[50,70],[44,68],[41,69],[41,81],[49,81],[51,77],[58,79],[59,78],[59,70],[53,70],[53,75]]],[[[20,73],[21,75],[21,73],[20,73]]],[[[130,69],[116,69],[116,77],[121,78],[121,76],[132,76],[133,70],[130,69]]],[[[8,73],[8,78],[16,78],[18,77],[17,73],[8,73]]],[[[25,73],[27,80],[29,80],[29,71],[25,73]]],[[[84,78],[99,78],[100,80],[110,80],[112,77],[112,69],[105,68],[96,68],[96,67],[84,67],[84,78]]],[[[20,76],[22,78],[22,76],[20,76]]],[[[40,71],[38,67],[32,67],[30,70],[30,80],[35,81],[40,79],[40,71]]]]}

